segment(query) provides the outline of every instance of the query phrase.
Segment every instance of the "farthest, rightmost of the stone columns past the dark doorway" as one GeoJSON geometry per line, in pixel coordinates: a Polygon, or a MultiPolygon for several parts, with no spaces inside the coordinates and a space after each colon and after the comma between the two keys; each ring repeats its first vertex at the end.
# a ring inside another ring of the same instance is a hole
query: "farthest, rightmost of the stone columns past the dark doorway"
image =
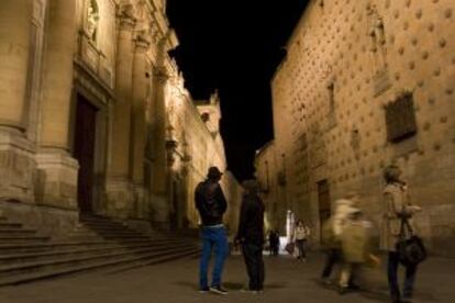
{"type": "Polygon", "coordinates": [[[164,68],[155,72],[154,94],[154,157],[152,162],[152,212],[153,221],[158,227],[169,225],[168,201],[168,161],[166,147],[166,86],[168,75],[164,68]]]}

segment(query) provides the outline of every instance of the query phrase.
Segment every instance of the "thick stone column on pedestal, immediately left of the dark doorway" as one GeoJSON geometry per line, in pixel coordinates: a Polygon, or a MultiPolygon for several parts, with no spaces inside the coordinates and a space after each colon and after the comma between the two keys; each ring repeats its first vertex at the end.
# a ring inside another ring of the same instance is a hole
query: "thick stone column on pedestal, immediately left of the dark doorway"
{"type": "Polygon", "coordinates": [[[41,204],[77,209],[78,162],[69,154],[69,117],[76,50],[76,0],[48,2],[38,154],[41,204]]]}

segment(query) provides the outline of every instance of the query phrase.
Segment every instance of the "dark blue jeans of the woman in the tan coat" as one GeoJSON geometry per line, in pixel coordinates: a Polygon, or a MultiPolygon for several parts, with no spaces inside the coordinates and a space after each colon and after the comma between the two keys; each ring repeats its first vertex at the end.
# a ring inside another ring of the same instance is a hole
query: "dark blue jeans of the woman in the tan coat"
{"type": "MultiPolygon", "coordinates": [[[[390,287],[390,296],[392,300],[401,298],[400,287],[398,285],[398,266],[400,265],[400,256],[396,251],[389,251],[387,274],[390,287]]],[[[414,290],[417,266],[406,267],[403,296],[411,299],[414,290]]]]}

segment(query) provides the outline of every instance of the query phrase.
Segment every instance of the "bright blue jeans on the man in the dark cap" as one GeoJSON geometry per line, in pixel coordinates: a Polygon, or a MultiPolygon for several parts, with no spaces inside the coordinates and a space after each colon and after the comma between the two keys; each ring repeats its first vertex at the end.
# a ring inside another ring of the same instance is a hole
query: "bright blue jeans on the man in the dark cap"
{"type": "Polygon", "coordinates": [[[214,250],[215,260],[213,266],[211,285],[220,287],[224,260],[228,257],[228,234],[226,229],[222,226],[202,227],[202,255],[199,267],[199,287],[201,289],[206,289],[209,285],[207,276],[212,250],[214,250]]]}

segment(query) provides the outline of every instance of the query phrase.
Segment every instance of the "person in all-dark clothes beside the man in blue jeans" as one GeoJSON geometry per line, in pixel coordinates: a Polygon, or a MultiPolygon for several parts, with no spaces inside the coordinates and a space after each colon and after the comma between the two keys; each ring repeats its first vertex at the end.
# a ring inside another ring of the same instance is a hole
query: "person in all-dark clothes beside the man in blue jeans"
{"type": "Polygon", "coordinates": [[[264,203],[258,195],[255,180],[243,183],[245,193],[242,200],[236,240],[242,243],[242,252],[249,277],[248,290],[254,293],[264,289],[264,203]]]}

